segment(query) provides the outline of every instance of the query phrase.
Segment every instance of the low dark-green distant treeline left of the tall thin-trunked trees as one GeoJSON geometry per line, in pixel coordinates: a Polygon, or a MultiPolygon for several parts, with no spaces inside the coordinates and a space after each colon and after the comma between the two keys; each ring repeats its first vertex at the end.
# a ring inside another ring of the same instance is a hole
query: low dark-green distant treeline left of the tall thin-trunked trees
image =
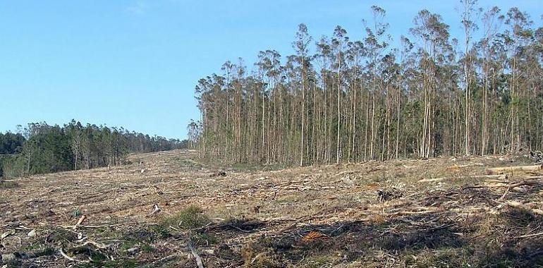
{"type": "Polygon", "coordinates": [[[129,153],[187,147],[187,141],[150,137],[124,128],[71,121],[64,126],[29,123],[0,133],[0,176],[16,177],[126,163],[129,153]]]}

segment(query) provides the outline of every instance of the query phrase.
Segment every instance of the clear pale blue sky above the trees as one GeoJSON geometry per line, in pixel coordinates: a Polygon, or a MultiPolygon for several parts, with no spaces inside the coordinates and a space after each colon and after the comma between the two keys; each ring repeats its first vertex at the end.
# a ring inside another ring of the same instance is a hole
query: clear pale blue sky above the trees
{"type": "MultiPolygon", "coordinates": [[[[123,126],[185,138],[199,118],[193,90],[226,60],[251,65],[258,51],[293,53],[298,23],[314,39],[336,25],[363,37],[362,18],[382,6],[395,38],[427,8],[461,37],[458,1],[0,0],[0,132],[47,121],[123,126]]],[[[480,1],[527,11],[537,27],[538,0],[480,1]]],[[[250,66],[251,67],[251,66],[250,66]]]]}

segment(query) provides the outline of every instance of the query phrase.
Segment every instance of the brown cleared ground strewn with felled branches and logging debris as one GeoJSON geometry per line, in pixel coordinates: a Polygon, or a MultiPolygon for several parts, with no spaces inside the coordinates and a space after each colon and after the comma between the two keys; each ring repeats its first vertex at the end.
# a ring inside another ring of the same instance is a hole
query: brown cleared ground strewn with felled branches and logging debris
{"type": "Polygon", "coordinates": [[[0,184],[0,267],[543,267],[543,172],[485,175],[522,157],[130,161],[0,184]]]}

